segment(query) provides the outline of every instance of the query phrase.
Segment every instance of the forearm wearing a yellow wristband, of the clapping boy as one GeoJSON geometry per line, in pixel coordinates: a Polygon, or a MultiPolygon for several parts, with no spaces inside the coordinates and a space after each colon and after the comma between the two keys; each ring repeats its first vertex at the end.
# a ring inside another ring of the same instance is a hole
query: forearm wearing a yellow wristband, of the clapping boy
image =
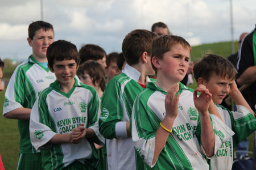
{"type": "MultiPolygon", "coordinates": [[[[172,126],[174,125],[175,118],[168,118],[165,117],[162,121],[162,125],[168,129],[171,130],[172,126]]],[[[156,130],[155,133],[155,151],[154,151],[154,157],[153,162],[154,164],[156,162],[156,159],[158,158],[158,155],[160,152],[162,152],[164,145],[166,145],[167,138],[169,136],[170,132],[167,130],[164,130],[162,126],[159,126],[158,130],[156,130]]]]}

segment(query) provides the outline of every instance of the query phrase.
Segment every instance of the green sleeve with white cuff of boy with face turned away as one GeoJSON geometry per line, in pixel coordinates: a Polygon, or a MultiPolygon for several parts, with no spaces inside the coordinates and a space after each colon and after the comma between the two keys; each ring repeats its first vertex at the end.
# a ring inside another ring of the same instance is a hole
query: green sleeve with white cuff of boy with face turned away
{"type": "MultiPolygon", "coordinates": [[[[121,89],[118,80],[112,79],[106,87],[101,100],[100,133],[106,139],[118,138],[116,124],[126,124],[126,122],[122,121],[123,106],[121,100],[121,89]]],[[[125,129],[121,129],[126,133],[125,129]]]]}

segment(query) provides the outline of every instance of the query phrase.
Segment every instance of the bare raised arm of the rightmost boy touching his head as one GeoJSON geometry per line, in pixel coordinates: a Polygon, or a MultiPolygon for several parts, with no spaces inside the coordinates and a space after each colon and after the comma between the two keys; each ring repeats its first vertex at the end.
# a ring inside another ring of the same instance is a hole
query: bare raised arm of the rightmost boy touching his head
{"type": "MultiPolygon", "coordinates": [[[[243,72],[243,73],[245,73],[245,72],[243,72]]],[[[256,79],[256,76],[255,76],[255,79],[256,79]]],[[[229,96],[234,101],[234,103],[236,103],[236,105],[242,105],[243,107],[246,107],[252,114],[254,113],[253,110],[251,110],[251,107],[249,106],[249,104],[247,103],[245,98],[243,97],[243,95],[241,94],[240,90],[238,90],[237,84],[235,81],[233,81],[233,83],[230,86],[229,96]]],[[[254,114],[253,114],[253,116],[254,116],[254,114]]]]}

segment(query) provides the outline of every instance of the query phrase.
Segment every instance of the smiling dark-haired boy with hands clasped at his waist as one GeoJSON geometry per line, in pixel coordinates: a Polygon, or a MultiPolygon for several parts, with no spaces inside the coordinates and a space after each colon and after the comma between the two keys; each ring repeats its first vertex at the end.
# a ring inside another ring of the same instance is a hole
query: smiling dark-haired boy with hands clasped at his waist
{"type": "Polygon", "coordinates": [[[30,137],[42,151],[43,169],[93,169],[98,160],[100,100],[93,87],[75,79],[76,45],[59,40],[47,50],[48,67],[56,81],[41,92],[31,111],[30,137]],[[76,144],[76,145],[73,145],[76,144]]]}

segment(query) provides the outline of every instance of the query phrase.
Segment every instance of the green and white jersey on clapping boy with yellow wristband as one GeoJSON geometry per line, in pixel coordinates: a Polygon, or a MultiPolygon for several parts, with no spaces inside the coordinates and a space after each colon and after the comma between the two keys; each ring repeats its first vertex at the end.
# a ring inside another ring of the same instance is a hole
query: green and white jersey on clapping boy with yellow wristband
{"type": "MultiPolygon", "coordinates": [[[[209,169],[207,156],[201,145],[201,122],[193,102],[193,90],[180,83],[178,114],[158,160],[152,164],[155,151],[155,133],[166,111],[166,92],[147,83],[147,88],[134,101],[132,137],[135,148],[148,169],[209,169]]],[[[216,123],[216,125],[218,125],[216,123]]],[[[232,130],[218,127],[215,133],[214,153],[228,138],[232,130]],[[220,135],[221,134],[221,135],[220,135]],[[219,137],[221,136],[221,138],[219,137]]]]}

